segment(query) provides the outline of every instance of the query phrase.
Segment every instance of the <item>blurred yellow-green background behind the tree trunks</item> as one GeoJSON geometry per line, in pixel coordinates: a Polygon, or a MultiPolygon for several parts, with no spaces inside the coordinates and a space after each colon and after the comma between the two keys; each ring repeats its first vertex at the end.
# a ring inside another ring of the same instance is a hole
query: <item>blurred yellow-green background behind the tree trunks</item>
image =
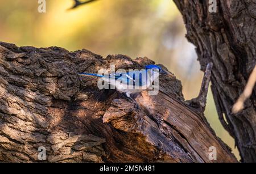
{"type": "MultiPolygon", "coordinates": [[[[181,80],[185,99],[198,95],[203,72],[171,0],[99,0],[74,10],[68,10],[72,0],[46,0],[46,13],[39,13],[38,6],[35,0],[0,0],[0,41],[39,48],[85,48],[104,57],[146,56],[181,80]]],[[[218,120],[211,91],[205,116],[240,159],[234,139],[218,120]]]]}

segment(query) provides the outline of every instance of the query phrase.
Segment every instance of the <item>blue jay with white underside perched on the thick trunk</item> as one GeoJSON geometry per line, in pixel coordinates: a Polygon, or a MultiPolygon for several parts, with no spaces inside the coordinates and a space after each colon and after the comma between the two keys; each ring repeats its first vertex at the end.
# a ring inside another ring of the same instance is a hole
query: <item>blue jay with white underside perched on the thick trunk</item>
{"type": "Polygon", "coordinates": [[[104,82],[112,85],[119,92],[125,93],[132,101],[135,100],[130,96],[131,94],[138,94],[147,88],[158,78],[159,74],[167,74],[158,65],[147,65],[144,70],[129,71],[127,73],[115,74],[93,74],[93,73],[79,73],[79,75],[99,77],[104,82]]]}

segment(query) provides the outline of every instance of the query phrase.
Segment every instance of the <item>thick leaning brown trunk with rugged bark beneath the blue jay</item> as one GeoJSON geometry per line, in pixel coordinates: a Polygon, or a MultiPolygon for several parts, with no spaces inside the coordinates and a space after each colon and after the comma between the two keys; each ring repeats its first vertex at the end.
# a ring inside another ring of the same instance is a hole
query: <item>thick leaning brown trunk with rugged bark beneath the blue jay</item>
{"type": "Polygon", "coordinates": [[[96,78],[77,75],[152,63],[0,43],[0,161],[41,162],[44,146],[43,162],[236,162],[203,113],[185,104],[173,74],[160,77],[158,95],[138,95],[139,108],[115,90],[98,90],[96,78]],[[210,146],[217,160],[209,160],[210,146]]]}

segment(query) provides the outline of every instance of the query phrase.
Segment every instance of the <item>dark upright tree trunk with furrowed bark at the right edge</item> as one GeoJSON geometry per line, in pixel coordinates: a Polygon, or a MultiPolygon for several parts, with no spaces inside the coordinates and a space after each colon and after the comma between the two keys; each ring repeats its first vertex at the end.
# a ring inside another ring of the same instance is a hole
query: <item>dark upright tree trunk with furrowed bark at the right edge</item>
{"type": "Polygon", "coordinates": [[[231,112],[255,66],[256,1],[218,0],[216,13],[209,12],[209,1],[174,2],[188,40],[196,45],[201,69],[214,64],[211,87],[222,125],[235,138],[242,162],[256,162],[255,87],[245,109],[231,112]]]}

